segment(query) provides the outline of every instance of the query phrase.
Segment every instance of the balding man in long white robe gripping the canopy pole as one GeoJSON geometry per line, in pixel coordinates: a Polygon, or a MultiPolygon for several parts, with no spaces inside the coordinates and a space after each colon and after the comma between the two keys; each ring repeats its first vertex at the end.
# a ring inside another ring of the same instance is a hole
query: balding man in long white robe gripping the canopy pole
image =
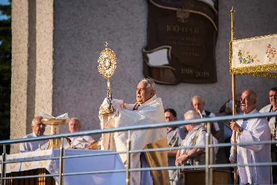
{"type": "MultiPolygon", "coordinates": [[[[242,94],[241,109],[244,114],[257,114],[257,94],[246,90],[242,94]]],[[[237,133],[237,142],[270,141],[270,128],[266,118],[250,118],[246,121],[231,122],[231,129],[237,133]]],[[[233,141],[233,138],[231,138],[233,141]]],[[[271,162],[270,145],[238,146],[238,164],[256,164],[271,162]]],[[[231,148],[231,163],[236,163],[231,148]]],[[[271,166],[240,166],[238,167],[240,184],[271,184],[271,166]]]]}

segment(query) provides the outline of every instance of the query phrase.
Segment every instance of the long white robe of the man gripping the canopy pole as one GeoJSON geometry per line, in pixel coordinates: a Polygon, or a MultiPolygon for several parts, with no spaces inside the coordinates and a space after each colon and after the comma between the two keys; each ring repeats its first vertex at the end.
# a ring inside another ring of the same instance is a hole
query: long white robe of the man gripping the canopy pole
{"type": "MultiPolygon", "coordinates": [[[[254,109],[249,114],[256,114],[254,109]]],[[[266,118],[251,118],[247,121],[237,121],[244,131],[238,134],[237,142],[270,141],[270,128],[266,118]]],[[[233,138],[231,138],[231,142],[233,138]]],[[[255,164],[271,162],[270,145],[237,146],[238,164],[255,164]]],[[[231,156],[233,157],[233,147],[231,156]]],[[[241,166],[238,167],[240,184],[271,184],[271,166],[241,166]]]]}

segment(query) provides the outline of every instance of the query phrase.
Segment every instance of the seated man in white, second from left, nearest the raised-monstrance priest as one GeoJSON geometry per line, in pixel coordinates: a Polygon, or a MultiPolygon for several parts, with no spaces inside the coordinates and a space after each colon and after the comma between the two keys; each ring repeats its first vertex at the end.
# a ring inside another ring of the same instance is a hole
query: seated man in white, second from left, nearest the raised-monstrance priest
{"type": "MultiPolygon", "coordinates": [[[[71,118],[69,121],[69,132],[80,132],[82,129],[82,124],[79,118],[71,118]]],[[[90,143],[95,142],[91,136],[74,136],[69,137],[71,141],[69,141],[69,145],[65,144],[64,148],[70,148],[70,144],[72,144],[72,148],[75,149],[84,149],[87,148],[90,143]],[[71,142],[71,143],[70,143],[71,142]]]]}

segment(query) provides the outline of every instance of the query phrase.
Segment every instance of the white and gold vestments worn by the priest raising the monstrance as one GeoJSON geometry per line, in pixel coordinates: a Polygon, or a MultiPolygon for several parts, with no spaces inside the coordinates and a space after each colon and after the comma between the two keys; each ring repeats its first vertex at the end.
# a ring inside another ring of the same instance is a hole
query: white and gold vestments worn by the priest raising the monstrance
{"type": "MultiPolygon", "coordinates": [[[[122,100],[113,100],[114,108],[116,112],[114,114],[109,114],[109,116],[99,116],[102,128],[108,127],[125,127],[131,125],[143,125],[149,123],[162,123],[165,122],[164,112],[163,112],[163,103],[161,98],[158,98],[156,95],[152,96],[148,101],[141,104],[137,110],[134,109],[134,104],[124,106],[120,105],[123,103],[122,100]]],[[[105,99],[100,107],[100,112],[103,109],[107,109],[109,104],[105,99]]],[[[145,148],[157,148],[157,147],[167,147],[167,134],[166,128],[153,128],[148,130],[132,130],[131,132],[131,148],[130,150],[143,150],[145,148]],[[165,142],[163,142],[165,141],[165,142]],[[152,143],[154,143],[152,146],[152,143]]],[[[117,152],[122,152],[127,150],[127,139],[128,133],[127,132],[114,132],[114,134],[103,134],[102,135],[102,146],[101,148],[104,150],[115,150],[117,152]]],[[[168,165],[168,157],[167,153],[159,152],[155,155],[156,152],[145,152],[145,157],[148,159],[148,166],[152,167],[159,165],[168,165]],[[152,153],[148,155],[148,153],[152,153]],[[166,155],[161,155],[161,153],[165,153],[166,155]],[[154,155],[153,155],[154,154],[154,155]],[[156,158],[156,161],[149,161],[149,157],[151,159],[156,158]],[[162,157],[162,159],[159,159],[162,157]],[[163,159],[164,158],[164,159],[163,159]]],[[[140,161],[141,153],[134,153],[131,155],[131,168],[140,168],[141,161],[140,161]]],[[[127,160],[126,154],[120,154],[120,157],[123,163],[127,160]]],[[[169,184],[169,177],[168,174],[165,175],[163,171],[167,170],[155,170],[152,171],[153,181],[155,185],[157,184],[169,184]],[[159,172],[158,172],[159,171],[159,172]],[[159,174],[156,174],[159,173],[159,174]],[[159,178],[158,178],[158,177],[159,178]],[[162,177],[161,177],[162,176],[162,177]],[[166,177],[165,177],[166,176],[166,177]],[[164,182],[163,182],[164,181],[164,182]],[[168,181],[168,183],[166,182],[168,181]]],[[[132,180],[134,185],[140,184],[140,173],[132,173],[132,180]]]]}

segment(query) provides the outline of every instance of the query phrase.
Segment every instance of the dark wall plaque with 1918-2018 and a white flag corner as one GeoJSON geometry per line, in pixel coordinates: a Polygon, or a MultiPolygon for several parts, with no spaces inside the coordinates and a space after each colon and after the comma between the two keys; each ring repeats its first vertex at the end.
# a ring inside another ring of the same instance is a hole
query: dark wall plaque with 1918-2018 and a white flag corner
{"type": "Polygon", "coordinates": [[[217,0],[148,0],[143,74],[161,84],[217,81],[217,0]]]}

